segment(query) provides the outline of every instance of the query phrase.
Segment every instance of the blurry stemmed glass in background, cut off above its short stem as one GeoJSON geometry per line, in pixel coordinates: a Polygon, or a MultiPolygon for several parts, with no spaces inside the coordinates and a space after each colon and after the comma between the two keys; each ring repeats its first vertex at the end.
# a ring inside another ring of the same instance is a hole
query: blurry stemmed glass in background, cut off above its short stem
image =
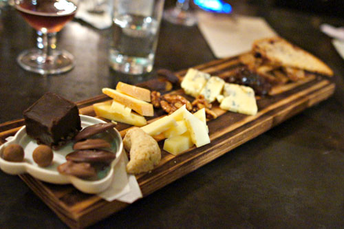
{"type": "Polygon", "coordinates": [[[177,0],[175,7],[164,12],[164,19],[173,24],[193,26],[197,23],[197,17],[190,10],[189,0],[177,0]]]}

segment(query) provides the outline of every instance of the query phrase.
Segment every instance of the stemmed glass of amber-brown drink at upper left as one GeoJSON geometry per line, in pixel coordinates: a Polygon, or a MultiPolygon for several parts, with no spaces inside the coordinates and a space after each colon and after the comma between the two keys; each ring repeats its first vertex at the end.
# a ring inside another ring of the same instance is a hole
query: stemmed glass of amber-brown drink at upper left
{"type": "Polygon", "coordinates": [[[38,74],[60,74],[74,67],[74,57],[56,50],[56,33],[73,19],[78,0],[15,0],[14,8],[37,31],[37,47],[17,57],[23,69],[38,74]]]}

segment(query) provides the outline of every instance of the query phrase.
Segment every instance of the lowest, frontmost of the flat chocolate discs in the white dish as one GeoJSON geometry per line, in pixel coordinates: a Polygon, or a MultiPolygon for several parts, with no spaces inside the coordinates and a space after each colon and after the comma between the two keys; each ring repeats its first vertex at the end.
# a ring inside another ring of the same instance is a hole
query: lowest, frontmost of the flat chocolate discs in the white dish
{"type": "Polygon", "coordinates": [[[96,169],[89,163],[65,162],[57,167],[58,173],[64,175],[74,175],[80,178],[89,178],[96,176],[96,169]]]}

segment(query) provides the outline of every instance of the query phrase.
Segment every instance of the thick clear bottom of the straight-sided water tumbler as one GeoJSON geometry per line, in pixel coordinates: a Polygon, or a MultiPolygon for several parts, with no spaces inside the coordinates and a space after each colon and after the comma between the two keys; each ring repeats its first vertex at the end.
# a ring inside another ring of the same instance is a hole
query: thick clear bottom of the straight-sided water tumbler
{"type": "Polygon", "coordinates": [[[112,69],[125,74],[139,75],[151,72],[154,54],[147,57],[125,56],[116,50],[110,50],[109,62],[112,69]]]}

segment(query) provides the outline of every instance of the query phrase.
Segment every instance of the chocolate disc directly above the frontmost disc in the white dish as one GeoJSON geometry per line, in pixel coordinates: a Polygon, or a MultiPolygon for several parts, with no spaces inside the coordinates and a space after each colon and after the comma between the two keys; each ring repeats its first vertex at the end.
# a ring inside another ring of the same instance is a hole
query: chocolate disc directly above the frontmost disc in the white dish
{"type": "Polygon", "coordinates": [[[116,155],[109,151],[100,149],[86,149],[74,151],[65,156],[65,159],[72,162],[105,163],[110,164],[116,155]]]}

